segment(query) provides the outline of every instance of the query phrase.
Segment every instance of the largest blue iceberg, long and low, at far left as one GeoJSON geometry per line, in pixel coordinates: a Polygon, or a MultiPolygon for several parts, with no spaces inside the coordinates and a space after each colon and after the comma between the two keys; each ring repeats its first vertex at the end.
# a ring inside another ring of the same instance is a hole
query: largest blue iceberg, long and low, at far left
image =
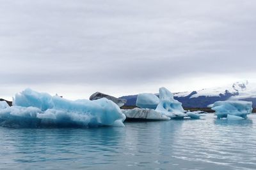
{"type": "Polygon", "coordinates": [[[4,127],[124,126],[125,120],[120,108],[106,98],[70,101],[26,89],[15,95],[13,106],[7,105],[0,103],[0,125],[4,127]]]}

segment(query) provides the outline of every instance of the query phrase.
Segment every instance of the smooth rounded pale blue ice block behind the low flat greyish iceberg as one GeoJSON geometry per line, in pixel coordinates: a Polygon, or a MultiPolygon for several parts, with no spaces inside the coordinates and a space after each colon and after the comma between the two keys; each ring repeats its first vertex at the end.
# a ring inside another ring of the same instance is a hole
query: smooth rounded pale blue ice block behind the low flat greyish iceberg
{"type": "Polygon", "coordinates": [[[138,94],[136,106],[145,109],[155,110],[159,104],[159,98],[155,94],[143,93],[138,94]]]}

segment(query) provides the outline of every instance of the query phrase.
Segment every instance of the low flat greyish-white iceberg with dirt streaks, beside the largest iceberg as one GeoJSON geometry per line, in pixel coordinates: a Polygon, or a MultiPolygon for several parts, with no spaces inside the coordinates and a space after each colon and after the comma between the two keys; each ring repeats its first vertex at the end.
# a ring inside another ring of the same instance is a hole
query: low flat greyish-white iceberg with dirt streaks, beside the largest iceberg
{"type": "Polygon", "coordinates": [[[150,109],[134,108],[132,110],[122,110],[126,120],[170,120],[162,113],[150,109]]]}

